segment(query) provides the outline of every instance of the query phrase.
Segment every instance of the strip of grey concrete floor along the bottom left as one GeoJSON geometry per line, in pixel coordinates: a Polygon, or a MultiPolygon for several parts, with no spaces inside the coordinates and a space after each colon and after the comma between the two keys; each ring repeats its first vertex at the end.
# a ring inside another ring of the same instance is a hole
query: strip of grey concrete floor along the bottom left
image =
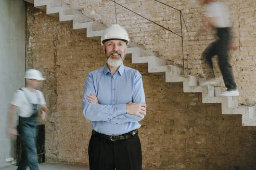
{"type": "MultiPolygon", "coordinates": [[[[39,164],[40,170],[89,170],[89,166],[86,165],[74,165],[74,164],[60,164],[60,163],[41,163],[39,164]]],[[[11,165],[0,168],[1,170],[16,170],[17,166],[11,165]]],[[[29,170],[29,168],[27,168],[29,170]]]]}

